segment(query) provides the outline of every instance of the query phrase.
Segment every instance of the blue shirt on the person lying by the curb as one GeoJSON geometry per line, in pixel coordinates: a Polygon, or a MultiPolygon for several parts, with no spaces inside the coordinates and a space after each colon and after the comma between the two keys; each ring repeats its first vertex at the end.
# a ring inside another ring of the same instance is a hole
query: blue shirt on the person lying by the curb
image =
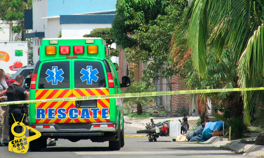
{"type": "MultiPolygon", "coordinates": [[[[225,123],[226,126],[226,123],[225,123]]],[[[223,122],[208,122],[206,126],[204,127],[202,136],[201,136],[201,142],[204,142],[206,140],[209,140],[213,135],[214,130],[217,129],[218,131],[223,130],[223,122]]]]}

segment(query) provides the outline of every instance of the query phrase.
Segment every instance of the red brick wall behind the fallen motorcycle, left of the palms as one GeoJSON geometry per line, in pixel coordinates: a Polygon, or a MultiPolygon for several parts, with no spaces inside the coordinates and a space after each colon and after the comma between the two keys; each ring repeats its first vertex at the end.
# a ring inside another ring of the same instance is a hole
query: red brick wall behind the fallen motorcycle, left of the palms
{"type": "MultiPolygon", "coordinates": [[[[180,83],[180,84],[172,84],[173,91],[185,90],[185,84],[181,83],[181,77],[178,74],[172,76],[172,83],[180,83]]],[[[185,106],[189,107],[189,103],[187,101],[187,94],[179,94],[172,96],[172,111],[177,112],[179,108],[185,106]]]]}

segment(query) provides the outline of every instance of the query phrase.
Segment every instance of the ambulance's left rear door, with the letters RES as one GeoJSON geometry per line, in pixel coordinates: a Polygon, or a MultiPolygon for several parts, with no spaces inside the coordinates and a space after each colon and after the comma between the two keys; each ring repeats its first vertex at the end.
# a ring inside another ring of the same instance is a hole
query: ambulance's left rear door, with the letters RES
{"type": "MultiPolygon", "coordinates": [[[[35,99],[72,97],[71,60],[44,61],[38,70],[35,99]]],[[[35,103],[36,124],[72,123],[72,101],[35,103]]]]}

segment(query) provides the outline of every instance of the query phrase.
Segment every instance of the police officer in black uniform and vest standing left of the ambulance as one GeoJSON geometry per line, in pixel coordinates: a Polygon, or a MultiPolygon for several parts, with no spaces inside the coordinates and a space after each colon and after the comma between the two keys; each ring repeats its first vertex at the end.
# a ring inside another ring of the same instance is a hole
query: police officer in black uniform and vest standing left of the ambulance
{"type": "MultiPolygon", "coordinates": [[[[24,81],[24,77],[22,75],[16,76],[16,81],[7,89],[6,95],[8,102],[11,101],[22,101],[29,100],[29,92],[26,92],[24,87],[21,87],[24,81]]],[[[23,118],[22,104],[11,104],[9,105],[9,141],[14,140],[14,135],[11,132],[11,126],[15,123],[13,116],[16,121],[21,122],[23,118]]],[[[22,126],[16,126],[14,128],[16,133],[22,133],[22,126]]]]}

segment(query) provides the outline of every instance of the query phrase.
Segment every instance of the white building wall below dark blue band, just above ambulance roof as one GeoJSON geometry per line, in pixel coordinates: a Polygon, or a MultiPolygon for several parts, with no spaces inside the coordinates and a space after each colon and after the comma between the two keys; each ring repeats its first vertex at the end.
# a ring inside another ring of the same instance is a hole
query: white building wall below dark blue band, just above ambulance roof
{"type": "Polygon", "coordinates": [[[93,29],[111,27],[111,24],[61,24],[62,37],[82,37],[93,29]]]}

